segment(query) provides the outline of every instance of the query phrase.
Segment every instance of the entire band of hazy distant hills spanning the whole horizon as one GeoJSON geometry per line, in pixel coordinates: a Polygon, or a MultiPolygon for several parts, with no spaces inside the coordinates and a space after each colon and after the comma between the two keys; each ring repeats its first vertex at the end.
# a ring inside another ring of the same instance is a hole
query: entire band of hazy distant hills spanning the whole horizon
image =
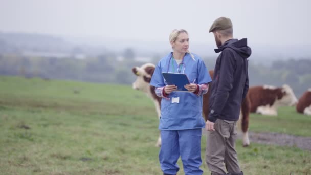
{"type": "MultiPolygon", "coordinates": [[[[206,43],[190,42],[190,51],[201,57],[216,58],[214,41],[206,43]],[[210,44],[213,43],[213,44],[210,44]]],[[[282,46],[281,43],[266,45],[248,41],[252,48],[251,61],[271,64],[273,60],[305,58],[311,59],[311,46],[282,46]]],[[[125,49],[134,50],[139,57],[160,57],[171,51],[168,41],[130,40],[112,37],[69,37],[36,33],[0,32],[0,52],[40,51],[57,53],[78,53],[100,55],[113,52],[120,55],[125,49]]]]}

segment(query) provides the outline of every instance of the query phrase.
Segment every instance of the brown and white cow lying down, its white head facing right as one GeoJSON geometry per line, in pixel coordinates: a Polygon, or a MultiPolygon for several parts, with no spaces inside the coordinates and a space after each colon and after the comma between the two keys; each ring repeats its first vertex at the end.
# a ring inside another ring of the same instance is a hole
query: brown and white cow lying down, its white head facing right
{"type": "Polygon", "coordinates": [[[249,89],[247,98],[250,101],[251,113],[272,116],[277,116],[279,106],[293,106],[298,101],[292,88],[287,84],[282,87],[253,86],[249,89]]]}

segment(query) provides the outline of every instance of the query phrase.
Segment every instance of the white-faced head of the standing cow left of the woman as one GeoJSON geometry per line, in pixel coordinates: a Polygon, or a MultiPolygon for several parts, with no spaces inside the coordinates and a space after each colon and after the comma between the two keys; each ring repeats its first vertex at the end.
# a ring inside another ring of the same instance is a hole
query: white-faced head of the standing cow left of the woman
{"type": "Polygon", "coordinates": [[[146,63],[140,68],[132,68],[132,72],[137,75],[136,81],[133,83],[133,89],[147,92],[150,87],[150,80],[156,67],[154,64],[146,63]]]}

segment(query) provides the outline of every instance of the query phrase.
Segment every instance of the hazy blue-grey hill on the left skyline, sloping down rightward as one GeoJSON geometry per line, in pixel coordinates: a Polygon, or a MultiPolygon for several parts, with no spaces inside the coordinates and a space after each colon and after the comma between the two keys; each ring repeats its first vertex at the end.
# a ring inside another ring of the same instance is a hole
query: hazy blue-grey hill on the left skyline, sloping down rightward
{"type": "Polygon", "coordinates": [[[0,53],[32,55],[99,55],[104,47],[71,43],[62,36],[37,33],[0,32],[0,53]]]}

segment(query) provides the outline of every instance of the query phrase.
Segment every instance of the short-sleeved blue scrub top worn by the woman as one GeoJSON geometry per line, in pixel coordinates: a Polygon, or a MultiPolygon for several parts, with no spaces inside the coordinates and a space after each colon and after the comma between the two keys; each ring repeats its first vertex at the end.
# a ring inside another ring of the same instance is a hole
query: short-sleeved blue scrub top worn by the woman
{"type": "MultiPolygon", "coordinates": [[[[195,60],[192,59],[189,53],[186,53],[183,60],[185,65],[184,74],[187,74],[191,83],[194,79],[196,84],[211,82],[212,79],[202,59],[195,54],[193,56],[195,60]]],[[[172,53],[159,61],[152,75],[151,85],[157,88],[167,85],[161,73],[173,72],[173,70],[176,72],[178,68],[176,61],[171,57],[172,53]]],[[[182,68],[182,65],[180,69],[183,72],[184,68],[182,68]]],[[[202,95],[197,96],[194,93],[188,92],[172,92],[168,98],[170,99],[162,98],[161,100],[160,130],[185,130],[205,127],[205,121],[202,117],[202,95]],[[172,97],[179,97],[179,103],[172,103],[172,97]]]]}

